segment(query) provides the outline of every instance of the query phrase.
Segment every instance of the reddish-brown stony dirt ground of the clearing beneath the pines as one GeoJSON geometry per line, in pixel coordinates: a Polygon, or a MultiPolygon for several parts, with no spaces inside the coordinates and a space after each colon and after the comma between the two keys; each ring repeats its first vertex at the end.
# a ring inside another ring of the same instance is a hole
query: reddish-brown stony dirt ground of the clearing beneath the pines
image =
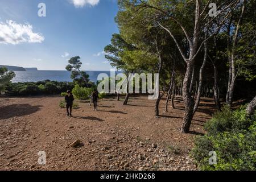
{"type": "Polygon", "coordinates": [[[132,97],[129,105],[107,98],[93,111],[79,103],[73,117],[59,108],[61,97],[0,98],[1,170],[195,170],[188,158],[196,135],[214,109],[203,100],[190,134],[180,134],[181,98],[177,109],[154,118],[154,101],[132,97]],[[82,145],[69,147],[80,139],[82,145]],[[47,164],[38,164],[45,151],[47,164]]]}

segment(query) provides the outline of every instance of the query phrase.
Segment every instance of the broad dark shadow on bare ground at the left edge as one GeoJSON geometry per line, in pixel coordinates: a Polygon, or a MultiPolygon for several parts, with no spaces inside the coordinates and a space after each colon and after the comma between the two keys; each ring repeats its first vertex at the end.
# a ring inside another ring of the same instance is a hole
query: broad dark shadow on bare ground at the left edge
{"type": "Polygon", "coordinates": [[[41,105],[31,106],[30,104],[13,104],[0,107],[0,119],[9,119],[30,115],[40,110],[41,105]]]}

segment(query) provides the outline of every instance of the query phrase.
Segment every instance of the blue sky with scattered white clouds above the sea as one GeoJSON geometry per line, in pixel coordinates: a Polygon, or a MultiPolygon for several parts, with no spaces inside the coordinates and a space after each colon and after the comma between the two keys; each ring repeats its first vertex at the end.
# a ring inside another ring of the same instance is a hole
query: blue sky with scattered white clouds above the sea
{"type": "Polygon", "coordinates": [[[65,70],[80,56],[82,70],[109,71],[104,47],[118,33],[117,11],[117,0],[1,0],[0,65],[65,70]]]}

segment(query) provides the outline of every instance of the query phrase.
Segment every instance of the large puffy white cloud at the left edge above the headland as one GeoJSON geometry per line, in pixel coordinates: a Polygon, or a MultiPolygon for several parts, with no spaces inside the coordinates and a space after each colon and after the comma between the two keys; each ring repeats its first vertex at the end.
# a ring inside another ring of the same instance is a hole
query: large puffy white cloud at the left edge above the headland
{"type": "Polygon", "coordinates": [[[42,43],[44,37],[33,32],[31,24],[19,24],[13,20],[0,22],[0,44],[42,43]]]}

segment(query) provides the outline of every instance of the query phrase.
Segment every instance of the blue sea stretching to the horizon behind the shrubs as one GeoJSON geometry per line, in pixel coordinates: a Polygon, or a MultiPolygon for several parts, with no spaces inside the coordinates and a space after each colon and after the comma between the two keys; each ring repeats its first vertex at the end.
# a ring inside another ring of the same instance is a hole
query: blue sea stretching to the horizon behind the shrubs
{"type": "MultiPolygon", "coordinates": [[[[96,82],[100,73],[110,76],[110,71],[85,71],[90,77],[90,81],[96,82]]],[[[71,82],[71,73],[68,71],[15,71],[16,76],[12,82],[37,82],[43,80],[68,81],[71,82]]]]}

